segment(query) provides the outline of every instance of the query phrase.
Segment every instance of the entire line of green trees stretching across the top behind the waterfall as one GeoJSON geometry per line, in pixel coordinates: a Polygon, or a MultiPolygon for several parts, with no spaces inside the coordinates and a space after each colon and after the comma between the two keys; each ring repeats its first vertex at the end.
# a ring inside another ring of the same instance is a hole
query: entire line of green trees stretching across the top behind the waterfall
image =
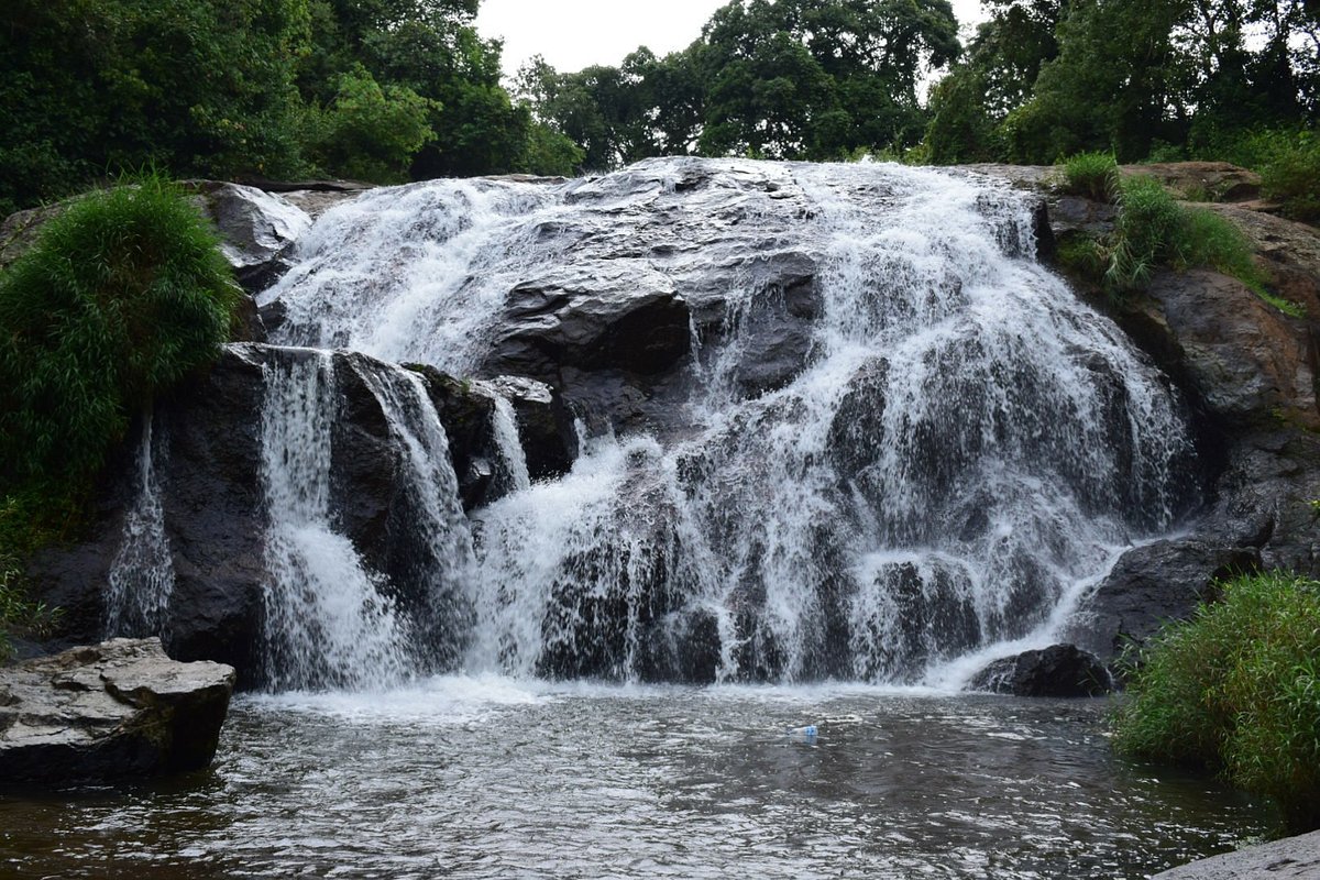
{"type": "Polygon", "coordinates": [[[511,90],[478,4],[9,0],[0,211],[143,165],[392,182],[667,154],[1251,164],[1283,141],[1292,178],[1320,164],[1313,0],[987,0],[965,49],[948,0],[731,0],[682,51],[533,59],[511,90]]]}

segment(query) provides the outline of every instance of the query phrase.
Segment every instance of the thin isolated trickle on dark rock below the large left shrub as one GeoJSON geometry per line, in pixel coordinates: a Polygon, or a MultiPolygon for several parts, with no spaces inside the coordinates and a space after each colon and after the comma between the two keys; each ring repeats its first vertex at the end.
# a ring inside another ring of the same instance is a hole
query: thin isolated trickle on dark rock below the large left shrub
{"type": "Polygon", "coordinates": [[[174,563],[165,534],[165,511],[154,459],[164,443],[153,431],[152,413],[143,417],[137,446],[137,493],[124,517],[124,540],[110,566],[106,590],[106,635],[164,636],[174,592],[174,563]]]}

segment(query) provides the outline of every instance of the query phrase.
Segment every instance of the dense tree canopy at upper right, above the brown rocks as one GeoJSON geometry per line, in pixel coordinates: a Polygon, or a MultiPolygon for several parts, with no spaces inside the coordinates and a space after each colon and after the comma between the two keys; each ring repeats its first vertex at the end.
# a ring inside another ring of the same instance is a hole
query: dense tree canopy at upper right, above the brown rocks
{"type": "Polygon", "coordinates": [[[1311,125],[1317,13],[1302,0],[997,0],[932,94],[931,157],[1209,156],[1311,125]]]}

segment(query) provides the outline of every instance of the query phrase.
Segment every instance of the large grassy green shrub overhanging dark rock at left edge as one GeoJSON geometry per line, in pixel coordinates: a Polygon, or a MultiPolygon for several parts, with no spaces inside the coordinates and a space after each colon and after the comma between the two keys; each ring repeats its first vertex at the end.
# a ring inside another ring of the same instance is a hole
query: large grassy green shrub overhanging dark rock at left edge
{"type": "Polygon", "coordinates": [[[4,495],[88,480],[135,410],[216,356],[240,297],[214,232],[160,178],[50,220],[0,274],[4,495]]]}

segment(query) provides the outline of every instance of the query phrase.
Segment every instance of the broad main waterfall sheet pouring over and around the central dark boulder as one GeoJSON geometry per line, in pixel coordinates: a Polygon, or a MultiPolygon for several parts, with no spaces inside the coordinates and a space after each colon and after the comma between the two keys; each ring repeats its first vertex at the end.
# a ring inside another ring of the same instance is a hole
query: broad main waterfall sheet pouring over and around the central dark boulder
{"type": "Polygon", "coordinates": [[[692,204],[692,168],[376,193],[327,214],[263,297],[288,342],[461,371],[528,277],[607,263],[682,290],[735,267],[725,332],[690,365],[688,430],[598,437],[564,479],[516,480],[475,515],[469,668],[935,681],[960,654],[1048,639],[1118,548],[1173,521],[1177,404],[1035,261],[1026,197],[722,161],[700,165],[718,201],[692,204]],[[754,231],[730,244],[733,227],[754,231]],[[705,248],[693,230],[714,230],[705,248]],[[812,255],[821,314],[805,367],[748,394],[767,294],[746,251],[785,244],[812,255]]]}

